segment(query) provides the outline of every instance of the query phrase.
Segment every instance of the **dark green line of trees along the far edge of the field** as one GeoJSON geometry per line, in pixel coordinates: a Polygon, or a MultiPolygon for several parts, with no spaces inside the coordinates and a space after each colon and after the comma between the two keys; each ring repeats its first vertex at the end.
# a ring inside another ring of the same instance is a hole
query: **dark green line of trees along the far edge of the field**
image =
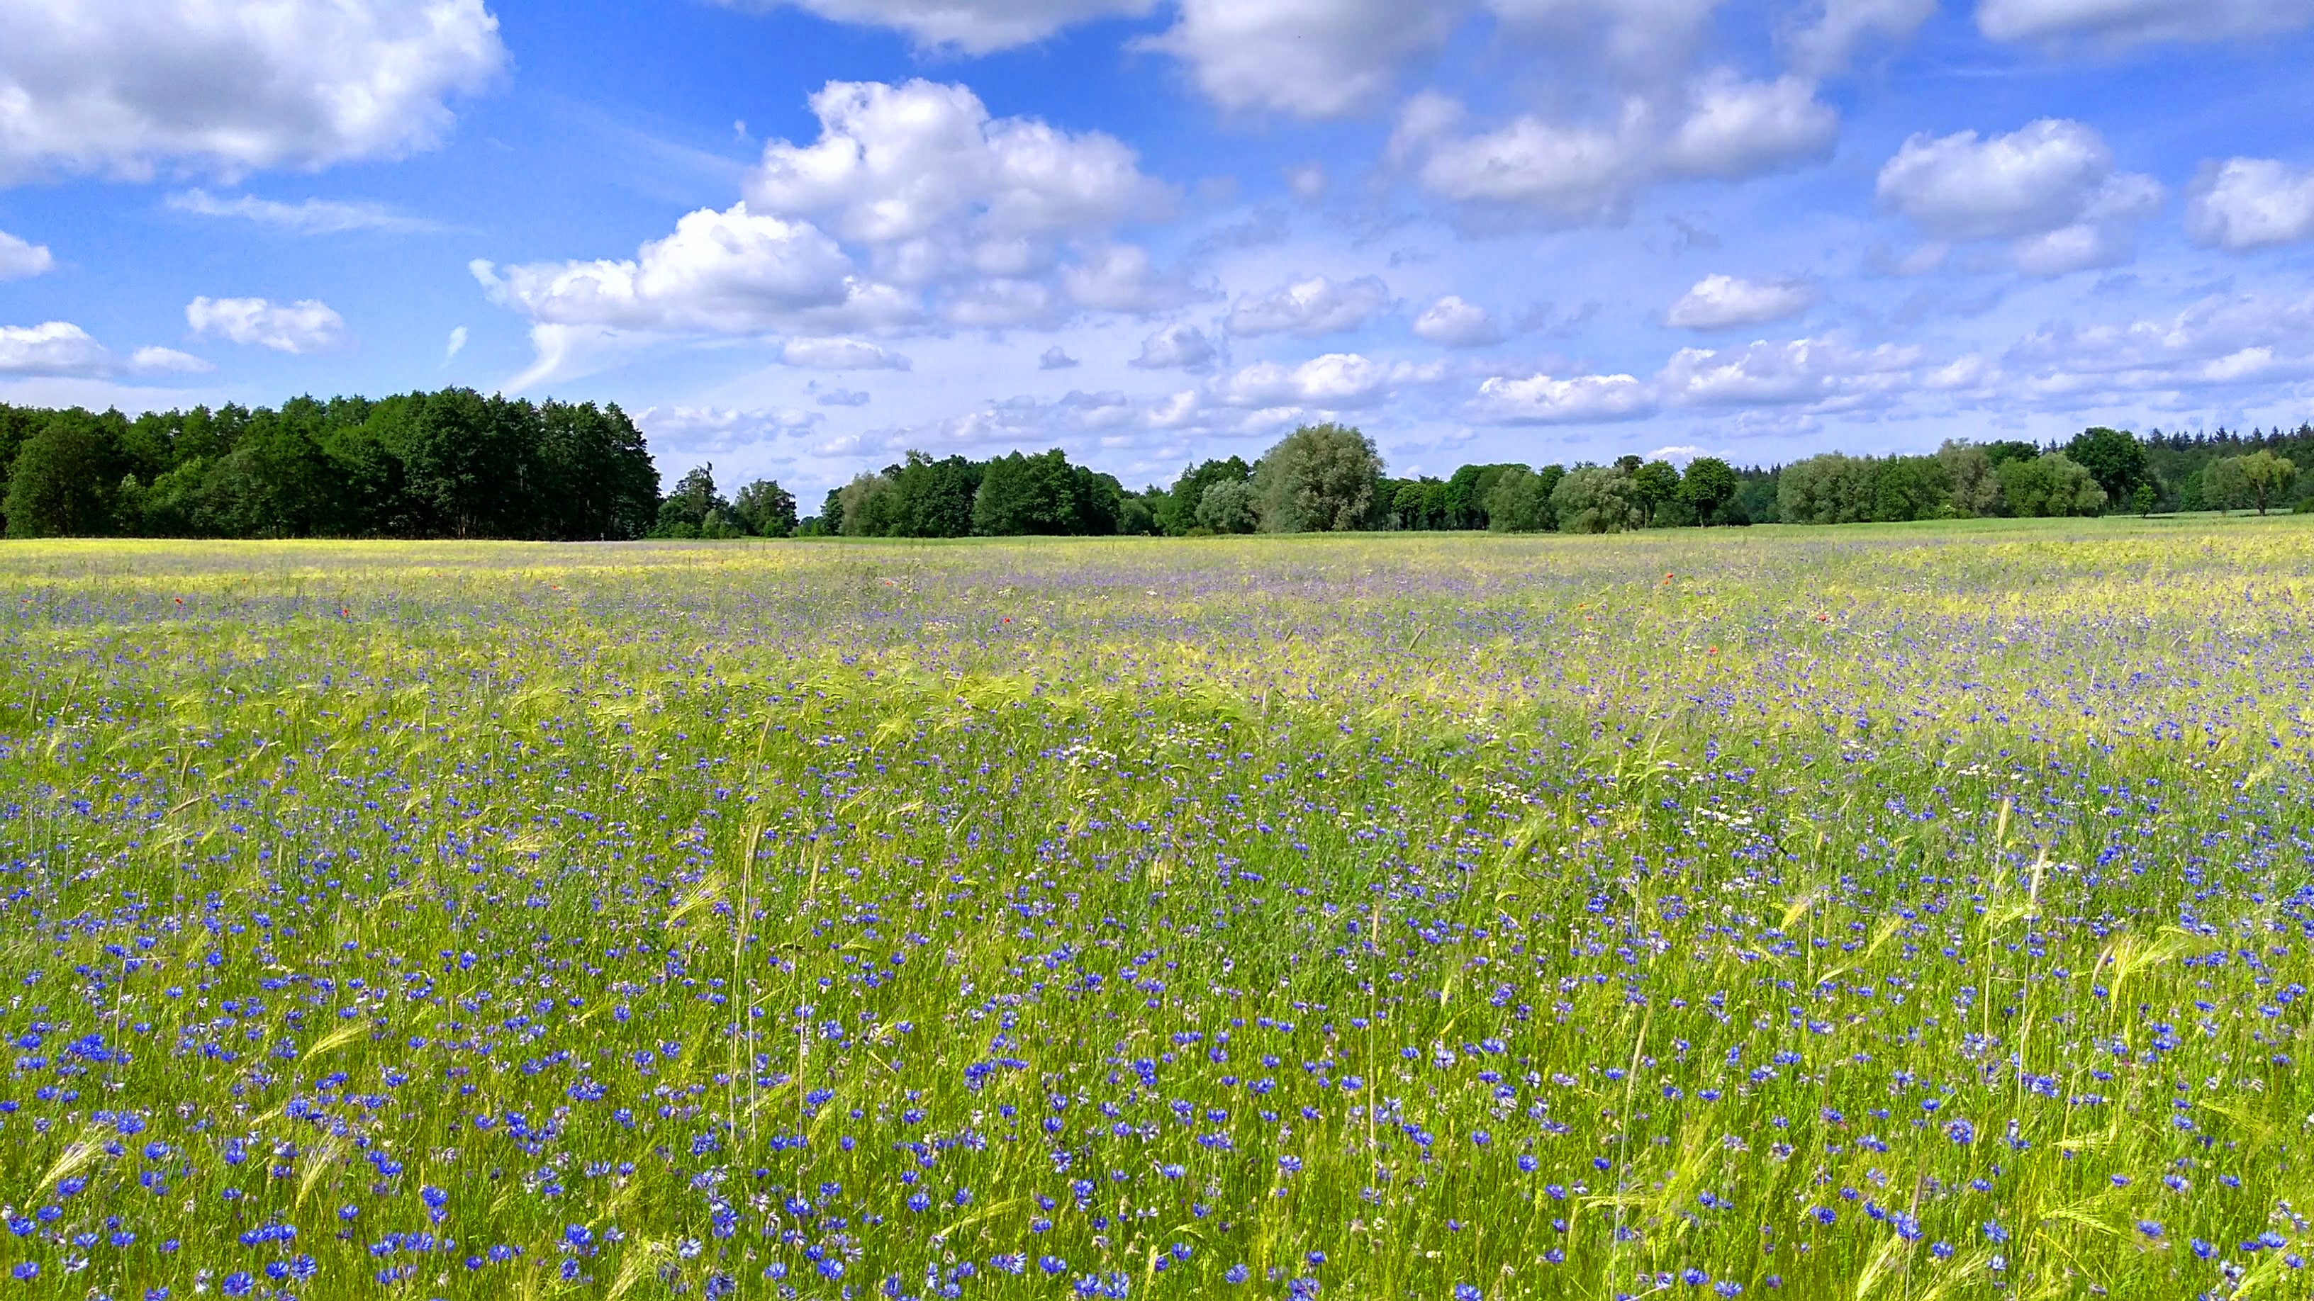
{"type": "Polygon", "coordinates": [[[1296,428],[1247,463],[1127,488],[1060,451],[988,461],[909,451],[826,493],[773,479],[731,495],[713,465],[666,493],[618,407],[472,389],[153,412],[0,405],[9,537],[1020,537],[1340,530],[1620,532],[1747,523],[2314,509],[2314,426],[2064,444],[1946,442],[1923,456],[1826,451],[1789,465],[1462,465],[1391,477],[1372,438],[1296,428]]]}

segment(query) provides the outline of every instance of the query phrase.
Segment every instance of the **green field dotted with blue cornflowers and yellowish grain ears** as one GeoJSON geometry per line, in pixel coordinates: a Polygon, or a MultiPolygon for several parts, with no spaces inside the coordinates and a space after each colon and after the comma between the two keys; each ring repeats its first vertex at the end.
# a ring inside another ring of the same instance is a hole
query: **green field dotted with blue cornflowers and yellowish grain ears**
{"type": "Polygon", "coordinates": [[[2309,1294],[2314,519],[0,600],[0,1294],[2309,1294]]]}

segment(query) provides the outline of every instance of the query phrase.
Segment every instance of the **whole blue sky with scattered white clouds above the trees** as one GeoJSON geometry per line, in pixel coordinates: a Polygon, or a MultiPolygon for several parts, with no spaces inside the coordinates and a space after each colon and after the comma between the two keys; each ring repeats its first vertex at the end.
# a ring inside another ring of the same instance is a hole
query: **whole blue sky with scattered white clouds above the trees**
{"type": "Polygon", "coordinates": [[[2314,414],[2314,0],[9,0],[0,400],[1127,484],[2314,414]]]}

